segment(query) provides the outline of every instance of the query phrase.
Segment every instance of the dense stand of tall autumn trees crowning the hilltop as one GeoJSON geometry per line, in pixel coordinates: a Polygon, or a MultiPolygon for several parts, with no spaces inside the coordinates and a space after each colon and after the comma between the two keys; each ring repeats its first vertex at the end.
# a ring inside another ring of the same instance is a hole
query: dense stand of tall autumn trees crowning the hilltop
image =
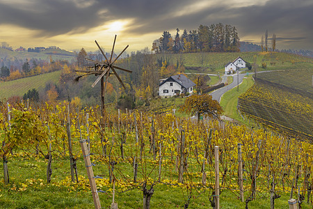
{"type": "Polygon", "coordinates": [[[152,43],[155,53],[190,52],[239,52],[239,36],[235,26],[230,24],[200,24],[198,30],[189,33],[184,29],[182,36],[176,29],[175,37],[163,31],[162,36],[152,43]]]}

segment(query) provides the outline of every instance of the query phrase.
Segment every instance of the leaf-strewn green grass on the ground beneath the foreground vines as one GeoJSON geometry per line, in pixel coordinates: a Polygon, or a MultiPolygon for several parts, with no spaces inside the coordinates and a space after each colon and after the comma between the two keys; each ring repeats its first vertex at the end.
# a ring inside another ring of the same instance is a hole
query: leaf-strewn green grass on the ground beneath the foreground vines
{"type": "MultiPolygon", "coordinates": [[[[95,159],[93,159],[95,160],[95,159]]],[[[67,158],[54,157],[52,161],[51,183],[45,182],[45,169],[47,160],[43,157],[29,158],[27,156],[10,157],[8,169],[10,173],[10,184],[4,185],[0,182],[0,208],[93,208],[93,197],[91,195],[86,168],[82,158],[77,161],[77,169],[81,183],[70,183],[70,165],[67,158]],[[26,180],[28,179],[28,180],[26,180]],[[34,179],[33,183],[29,183],[34,179]],[[61,183],[61,185],[60,185],[61,183]],[[22,184],[27,187],[24,191],[19,191],[22,184]]],[[[93,167],[95,175],[103,174],[104,179],[108,179],[108,168],[101,162],[96,162],[93,167]]],[[[163,167],[164,169],[164,167],[163,167]]],[[[132,176],[132,169],[123,170],[126,175],[132,176]]],[[[3,173],[0,172],[3,179],[3,173]]],[[[111,186],[102,185],[102,181],[96,180],[98,189],[107,191],[99,193],[100,203],[103,208],[109,208],[112,201],[112,192],[108,189],[111,186]]],[[[128,192],[119,193],[117,189],[115,202],[119,208],[142,208],[143,192],[139,189],[131,189],[128,192]]],[[[193,189],[193,197],[190,200],[189,208],[210,208],[209,196],[211,189],[206,191],[193,189]]],[[[245,199],[249,192],[245,192],[245,199]]],[[[275,200],[275,208],[287,208],[289,194],[280,192],[280,199],[275,200]]],[[[151,199],[151,208],[184,208],[188,199],[186,190],[179,186],[157,184],[154,187],[154,194],[151,199]],[[183,192],[185,191],[185,192],[183,192]]],[[[263,198],[258,198],[249,203],[249,208],[270,208],[268,194],[263,198]]],[[[221,208],[245,208],[245,203],[232,194],[229,189],[221,189],[221,208]]],[[[303,203],[303,209],[309,208],[307,203],[303,203]]]]}

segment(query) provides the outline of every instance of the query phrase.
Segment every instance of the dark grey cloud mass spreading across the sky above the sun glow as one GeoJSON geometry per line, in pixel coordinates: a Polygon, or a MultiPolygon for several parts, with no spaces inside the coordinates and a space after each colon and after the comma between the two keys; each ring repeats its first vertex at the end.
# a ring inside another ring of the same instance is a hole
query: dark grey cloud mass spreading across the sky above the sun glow
{"type": "MultiPolygon", "coordinates": [[[[24,3],[26,1],[23,1],[24,3]]],[[[235,0],[207,1],[208,7],[189,13],[186,6],[195,0],[55,0],[30,1],[29,6],[0,2],[0,24],[16,24],[40,31],[38,36],[55,36],[63,33],[83,33],[105,22],[132,19],[127,33],[141,35],[162,31],[174,32],[176,28],[197,29],[200,24],[222,22],[236,26],[240,36],[259,36],[268,29],[276,33],[277,40],[302,41],[313,46],[313,1],[269,0],[262,5],[236,6],[235,0]],[[218,2],[223,2],[223,5],[218,2]],[[33,3],[33,7],[31,7],[33,3]],[[186,10],[179,16],[175,14],[186,10]],[[288,38],[300,37],[300,39],[288,38]],[[283,40],[287,38],[288,40],[283,40]]],[[[237,5],[238,3],[236,3],[237,5]]],[[[157,37],[156,37],[157,38],[157,37]]],[[[259,38],[259,39],[260,39],[259,38]]],[[[312,47],[311,47],[312,48],[312,47]]]]}

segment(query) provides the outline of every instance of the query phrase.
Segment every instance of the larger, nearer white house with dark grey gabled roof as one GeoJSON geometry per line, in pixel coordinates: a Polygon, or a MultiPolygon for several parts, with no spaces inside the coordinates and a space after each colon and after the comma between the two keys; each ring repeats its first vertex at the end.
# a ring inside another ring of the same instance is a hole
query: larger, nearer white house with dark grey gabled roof
{"type": "Polygon", "coordinates": [[[179,74],[160,80],[159,95],[162,98],[172,97],[181,93],[193,93],[195,83],[188,77],[179,74]]]}

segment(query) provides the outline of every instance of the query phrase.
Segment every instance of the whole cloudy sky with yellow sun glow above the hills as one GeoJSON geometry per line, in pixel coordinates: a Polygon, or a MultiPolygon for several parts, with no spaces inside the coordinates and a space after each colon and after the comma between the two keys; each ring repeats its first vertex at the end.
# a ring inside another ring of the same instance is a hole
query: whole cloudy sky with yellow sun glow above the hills
{"type": "MultiPolygon", "coordinates": [[[[13,49],[127,52],[151,49],[163,31],[175,36],[200,24],[231,24],[241,41],[277,36],[278,49],[313,51],[312,0],[0,0],[0,42],[13,49]]],[[[269,40],[271,44],[271,40],[269,40]]]]}

